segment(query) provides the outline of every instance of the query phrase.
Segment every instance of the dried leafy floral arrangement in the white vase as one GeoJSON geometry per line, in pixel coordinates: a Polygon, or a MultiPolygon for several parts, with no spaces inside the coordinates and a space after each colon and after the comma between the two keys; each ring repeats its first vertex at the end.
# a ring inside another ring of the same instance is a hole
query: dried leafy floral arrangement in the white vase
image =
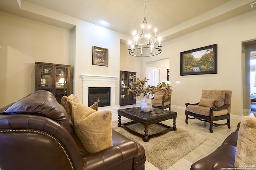
{"type": "Polygon", "coordinates": [[[127,90],[127,95],[129,94],[135,94],[134,98],[136,99],[137,97],[140,96],[150,96],[155,94],[156,92],[160,92],[162,91],[162,88],[166,88],[166,89],[171,89],[172,86],[170,86],[169,84],[166,85],[165,82],[159,83],[157,86],[146,86],[146,82],[148,82],[149,79],[147,79],[146,77],[144,79],[139,79],[137,78],[136,80],[136,76],[132,76],[131,77],[133,79],[133,81],[130,84],[130,87],[127,90]]]}

